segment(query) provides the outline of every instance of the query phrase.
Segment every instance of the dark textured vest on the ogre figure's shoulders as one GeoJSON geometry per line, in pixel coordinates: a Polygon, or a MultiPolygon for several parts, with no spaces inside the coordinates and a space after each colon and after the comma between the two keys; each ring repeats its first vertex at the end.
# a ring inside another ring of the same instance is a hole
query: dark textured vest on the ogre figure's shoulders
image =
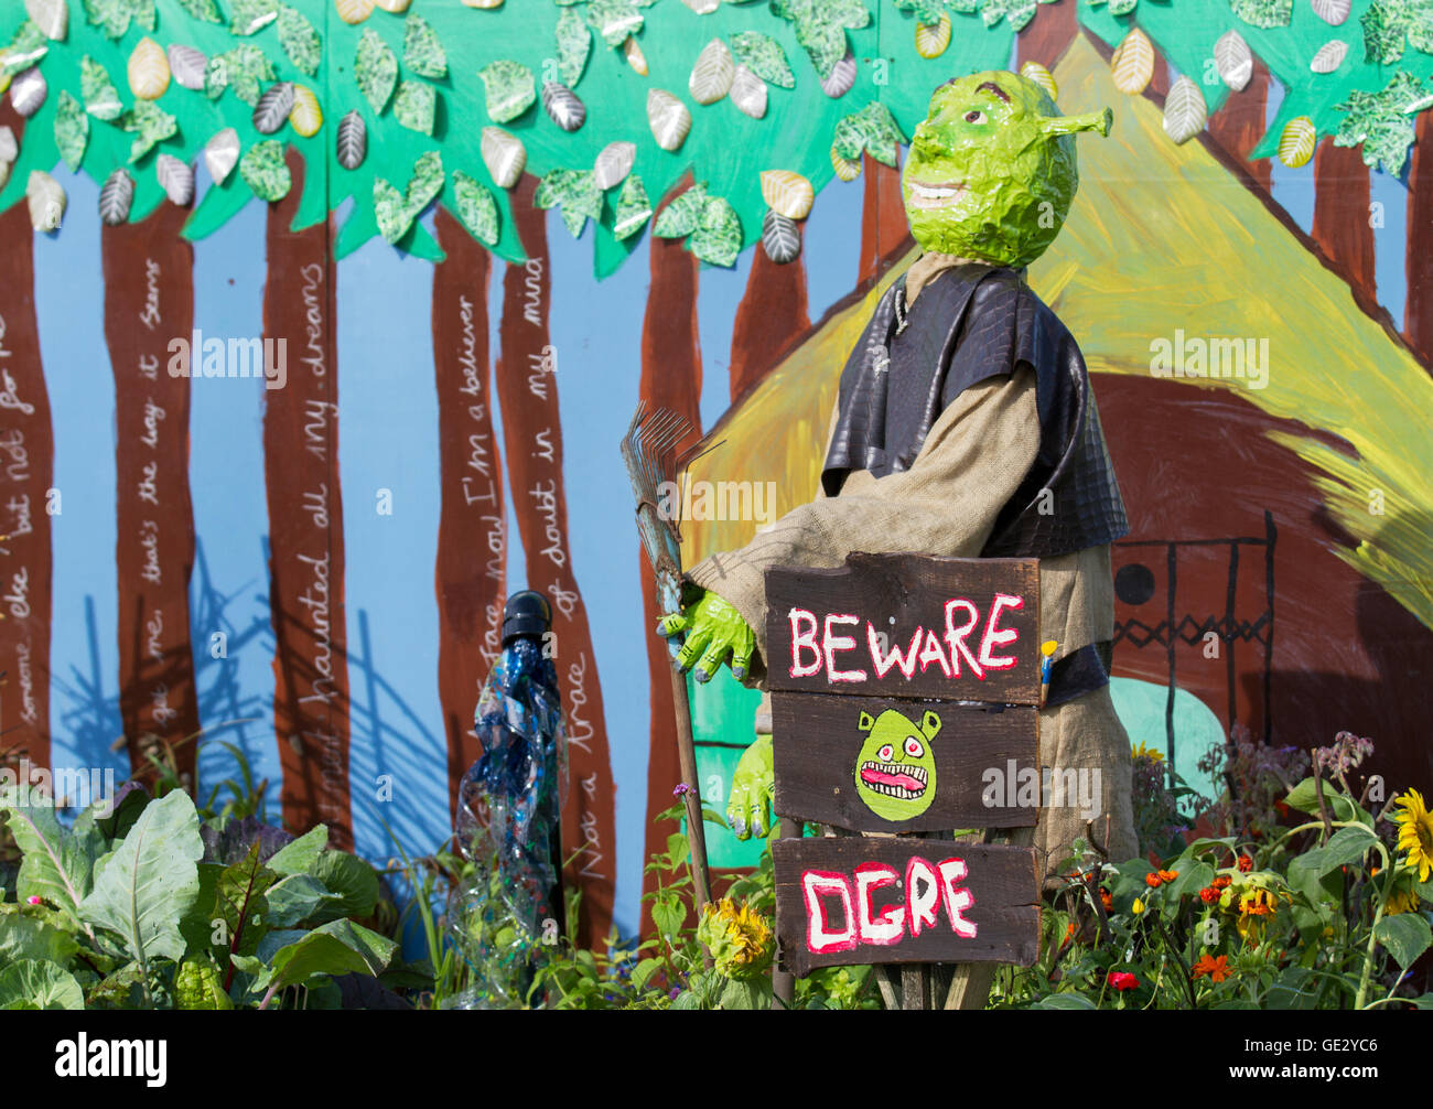
{"type": "Polygon", "coordinates": [[[841,373],[840,414],[821,471],[827,496],[840,493],[851,470],[876,477],[909,470],[956,397],[1026,363],[1036,377],[1040,448],[996,516],[982,557],[1048,559],[1125,536],[1125,504],[1085,360],[1023,275],[960,265],[936,275],[909,312],[904,301],[901,278],[841,373]]]}

